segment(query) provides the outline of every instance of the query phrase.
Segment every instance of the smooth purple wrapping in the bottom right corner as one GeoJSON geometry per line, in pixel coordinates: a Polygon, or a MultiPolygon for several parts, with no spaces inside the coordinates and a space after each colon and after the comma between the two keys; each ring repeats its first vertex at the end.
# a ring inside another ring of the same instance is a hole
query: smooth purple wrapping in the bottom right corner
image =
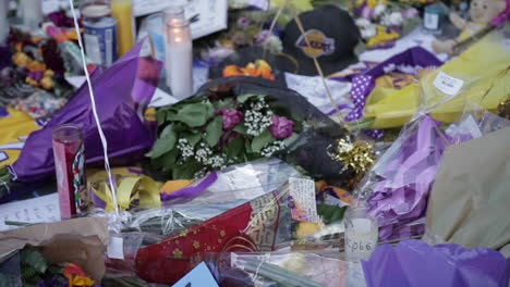
{"type": "Polygon", "coordinates": [[[379,246],[362,265],[367,287],[508,287],[510,273],[510,261],[498,251],[421,240],[379,246]]]}

